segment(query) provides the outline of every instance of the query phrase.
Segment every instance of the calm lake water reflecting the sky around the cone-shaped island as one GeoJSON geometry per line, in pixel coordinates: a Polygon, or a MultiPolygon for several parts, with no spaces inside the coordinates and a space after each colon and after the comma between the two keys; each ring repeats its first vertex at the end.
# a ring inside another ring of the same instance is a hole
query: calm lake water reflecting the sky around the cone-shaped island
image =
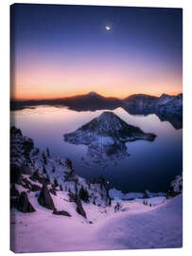
{"type": "Polygon", "coordinates": [[[42,150],[48,147],[52,155],[72,159],[76,173],[89,180],[102,174],[112,187],[123,192],[146,189],[166,192],[175,175],[182,174],[182,129],[175,130],[169,122],[161,121],[155,115],[131,116],[122,108],[113,110],[121,119],[157,137],[153,142],[138,140],[127,143],[131,155],[116,161],[115,165],[108,163],[108,167],[103,169],[92,165],[86,146],[63,141],[63,134],[75,131],[103,111],[76,112],[67,108],[39,106],[11,112],[11,124],[20,128],[26,137],[33,138],[35,145],[42,150]]]}

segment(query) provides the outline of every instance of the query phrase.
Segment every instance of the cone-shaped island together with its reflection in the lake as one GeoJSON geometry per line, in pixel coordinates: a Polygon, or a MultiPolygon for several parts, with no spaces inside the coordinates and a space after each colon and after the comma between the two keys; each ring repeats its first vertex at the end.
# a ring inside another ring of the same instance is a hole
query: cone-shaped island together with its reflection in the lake
{"type": "Polygon", "coordinates": [[[77,131],[63,137],[69,143],[87,145],[88,155],[101,164],[107,160],[129,156],[126,142],[139,139],[153,141],[156,136],[144,133],[139,127],[128,124],[113,112],[105,111],[77,131]]]}

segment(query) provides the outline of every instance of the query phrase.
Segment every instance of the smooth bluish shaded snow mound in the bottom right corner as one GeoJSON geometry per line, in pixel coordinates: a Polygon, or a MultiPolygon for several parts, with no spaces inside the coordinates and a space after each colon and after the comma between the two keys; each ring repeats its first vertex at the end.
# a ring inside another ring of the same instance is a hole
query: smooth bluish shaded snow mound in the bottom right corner
{"type": "Polygon", "coordinates": [[[154,210],[113,216],[97,231],[105,248],[165,248],[183,246],[183,198],[178,195],[154,210]],[[101,231],[102,230],[102,231],[101,231]]]}

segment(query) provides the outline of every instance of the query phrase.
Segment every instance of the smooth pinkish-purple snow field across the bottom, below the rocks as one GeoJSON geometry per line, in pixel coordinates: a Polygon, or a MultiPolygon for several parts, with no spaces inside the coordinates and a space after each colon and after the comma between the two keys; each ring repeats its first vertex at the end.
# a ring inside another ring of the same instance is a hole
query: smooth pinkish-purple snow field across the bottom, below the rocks
{"type": "MultiPolygon", "coordinates": [[[[30,198],[35,204],[35,198],[30,198]],[[34,200],[34,201],[33,201],[34,200]]],[[[57,203],[72,217],[51,214],[36,206],[34,213],[17,212],[11,219],[17,235],[12,240],[16,252],[44,252],[98,249],[182,247],[182,195],[166,203],[148,207],[135,201],[121,201],[122,210],[102,209],[83,203],[88,220],[77,214],[60,192],[57,203]],[[63,200],[63,197],[65,200],[63,200]],[[29,217],[30,216],[30,217],[29,217]],[[91,223],[90,223],[91,221],[91,223]],[[32,241],[32,243],[31,243],[32,241]]]]}

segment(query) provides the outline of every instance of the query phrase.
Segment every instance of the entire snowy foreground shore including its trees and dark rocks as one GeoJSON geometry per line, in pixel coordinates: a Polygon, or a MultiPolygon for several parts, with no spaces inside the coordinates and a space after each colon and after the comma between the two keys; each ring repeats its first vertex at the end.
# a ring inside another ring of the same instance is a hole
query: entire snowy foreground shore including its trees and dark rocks
{"type": "Polygon", "coordinates": [[[146,192],[149,198],[140,199],[132,192],[125,201],[114,192],[111,201],[102,177],[87,182],[69,159],[41,152],[15,127],[10,135],[14,252],[182,247],[182,195],[166,200],[146,192]]]}

